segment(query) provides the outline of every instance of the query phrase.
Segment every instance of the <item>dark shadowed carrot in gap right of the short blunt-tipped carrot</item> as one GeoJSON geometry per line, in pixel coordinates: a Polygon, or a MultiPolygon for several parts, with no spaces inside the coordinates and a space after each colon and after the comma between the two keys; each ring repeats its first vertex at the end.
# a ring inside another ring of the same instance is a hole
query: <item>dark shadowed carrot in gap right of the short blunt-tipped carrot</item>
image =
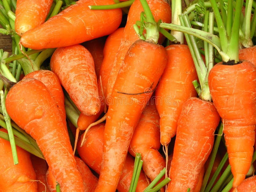
{"type": "Polygon", "coordinates": [[[100,66],[103,60],[103,49],[106,41],[106,36],[85,41],[82,45],[92,54],[94,60],[94,67],[97,79],[100,76],[100,66]]]}

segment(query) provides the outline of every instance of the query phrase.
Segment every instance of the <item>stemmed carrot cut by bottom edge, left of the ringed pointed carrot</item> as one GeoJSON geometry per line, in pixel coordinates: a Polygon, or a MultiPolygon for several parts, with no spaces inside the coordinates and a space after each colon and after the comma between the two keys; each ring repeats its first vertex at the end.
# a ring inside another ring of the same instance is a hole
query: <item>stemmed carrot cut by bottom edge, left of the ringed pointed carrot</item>
{"type": "Polygon", "coordinates": [[[212,102],[191,97],[182,106],[167,191],[193,191],[208,156],[220,116],[212,102]]]}

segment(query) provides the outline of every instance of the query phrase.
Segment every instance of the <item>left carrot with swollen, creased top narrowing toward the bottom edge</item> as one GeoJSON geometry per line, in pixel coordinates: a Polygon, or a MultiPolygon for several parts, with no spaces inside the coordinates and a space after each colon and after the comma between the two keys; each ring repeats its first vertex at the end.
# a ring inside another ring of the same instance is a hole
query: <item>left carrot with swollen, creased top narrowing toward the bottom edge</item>
{"type": "Polygon", "coordinates": [[[7,93],[5,105],[12,120],[36,140],[61,191],[83,191],[67,129],[47,87],[36,79],[22,79],[7,93]]]}

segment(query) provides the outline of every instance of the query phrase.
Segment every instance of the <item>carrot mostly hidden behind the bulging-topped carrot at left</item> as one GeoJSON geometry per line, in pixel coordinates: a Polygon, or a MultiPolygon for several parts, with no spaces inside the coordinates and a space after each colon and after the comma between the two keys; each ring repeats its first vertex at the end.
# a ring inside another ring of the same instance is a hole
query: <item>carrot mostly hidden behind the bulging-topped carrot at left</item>
{"type": "Polygon", "coordinates": [[[58,76],[50,70],[36,70],[28,73],[25,78],[34,78],[41,81],[54,97],[64,124],[66,124],[66,111],[64,105],[64,93],[58,76]]]}

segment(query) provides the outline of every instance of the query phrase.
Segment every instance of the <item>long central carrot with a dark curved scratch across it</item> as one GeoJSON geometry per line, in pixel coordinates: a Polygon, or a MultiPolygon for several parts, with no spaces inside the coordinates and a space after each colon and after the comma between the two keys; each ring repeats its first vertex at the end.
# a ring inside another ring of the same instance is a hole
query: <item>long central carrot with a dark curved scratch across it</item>
{"type": "Polygon", "coordinates": [[[134,129],[164,72],[162,45],[135,41],[118,73],[104,131],[103,163],[95,191],[116,191],[134,129]]]}

